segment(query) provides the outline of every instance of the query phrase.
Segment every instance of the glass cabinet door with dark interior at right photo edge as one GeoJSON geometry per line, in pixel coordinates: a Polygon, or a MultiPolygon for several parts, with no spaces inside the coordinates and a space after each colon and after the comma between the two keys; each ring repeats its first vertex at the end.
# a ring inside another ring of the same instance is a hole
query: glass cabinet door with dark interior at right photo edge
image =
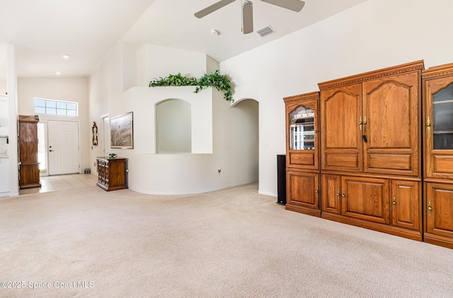
{"type": "Polygon", "coordinates": [[[432,95],[432,149],[453,149],[453,85],[432,95]]]}

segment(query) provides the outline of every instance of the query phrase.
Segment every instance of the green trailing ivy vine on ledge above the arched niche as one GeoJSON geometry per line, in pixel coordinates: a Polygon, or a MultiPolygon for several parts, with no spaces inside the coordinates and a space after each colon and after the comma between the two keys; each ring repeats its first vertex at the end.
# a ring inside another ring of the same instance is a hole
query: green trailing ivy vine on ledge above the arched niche
{"type": "Polygon", "coordinates": [[[229,76],[222,75],[217,69],[213,73],[204,74],[201,78],[193,78],[176,75],[168,75],[165,78],[159,78],[149,82],[149,87],[165,87],[165,86],[196,86],[194,93],[199,93],[203,88],[216,88],[224,93],[224,99],[234,102],[233,90],[231,88],[231,80],[229,76]]]}

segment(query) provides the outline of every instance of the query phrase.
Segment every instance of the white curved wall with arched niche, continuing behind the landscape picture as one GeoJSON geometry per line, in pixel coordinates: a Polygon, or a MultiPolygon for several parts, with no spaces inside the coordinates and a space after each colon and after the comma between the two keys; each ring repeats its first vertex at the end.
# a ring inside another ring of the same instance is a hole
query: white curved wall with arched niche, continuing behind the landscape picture
{"type": "MultiPolygon", "coordinates": [[[[217,69],[218,63],[205,54],[144,46],[136,54],[137,86],[123,92],[134,81],[134,66],[125,64],[126,60],[132,61],[131,49],[128,44],[113,49],[89,79],[90,121],[101,123],[105,114],[115,117],[134,112],[134,149],[109,149],[129,159],[130,189],[142,193],[200,193],[257,181],[257,104],[231,107],[223,94],[212,88],[195,94],[193,86],[148,87],[149,81],[168,74],[202,76],[217,69]],[[155,154],[155,104],[169,98],[192,105],[191,154],[155,154]],[[255,126],[247,123],[250,117],[255,119],[255,126]],[[246,133],[251,129],[252,136],[246,133]]],[[[102,155],[101,147],[91,151],[92,164],[96,156],[102,155]]]]}

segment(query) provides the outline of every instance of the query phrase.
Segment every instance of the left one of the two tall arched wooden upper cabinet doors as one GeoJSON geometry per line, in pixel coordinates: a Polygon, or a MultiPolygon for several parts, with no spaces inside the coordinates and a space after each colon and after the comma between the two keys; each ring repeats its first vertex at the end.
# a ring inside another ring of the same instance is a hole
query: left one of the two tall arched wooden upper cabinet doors
{"type": "Polygon", "coordinates": [[[362,84],[321,91],[321,167],[361,172],[362,84]]]}

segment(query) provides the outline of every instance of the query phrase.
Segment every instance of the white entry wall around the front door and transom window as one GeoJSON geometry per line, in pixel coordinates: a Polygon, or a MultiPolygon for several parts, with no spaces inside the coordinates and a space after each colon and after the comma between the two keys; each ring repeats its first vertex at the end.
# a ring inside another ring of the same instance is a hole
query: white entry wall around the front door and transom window
{"type": "Polygon", "coordinates": [[[40,122],[46,122],[49,119],[79,121],[80,169],[83,172],[89,167],[93,124],[88,117],[88,78],[18,78],[18,114],[35,114],[34,97],[78,103],[78,117],[40,115],[40,122]]]}

